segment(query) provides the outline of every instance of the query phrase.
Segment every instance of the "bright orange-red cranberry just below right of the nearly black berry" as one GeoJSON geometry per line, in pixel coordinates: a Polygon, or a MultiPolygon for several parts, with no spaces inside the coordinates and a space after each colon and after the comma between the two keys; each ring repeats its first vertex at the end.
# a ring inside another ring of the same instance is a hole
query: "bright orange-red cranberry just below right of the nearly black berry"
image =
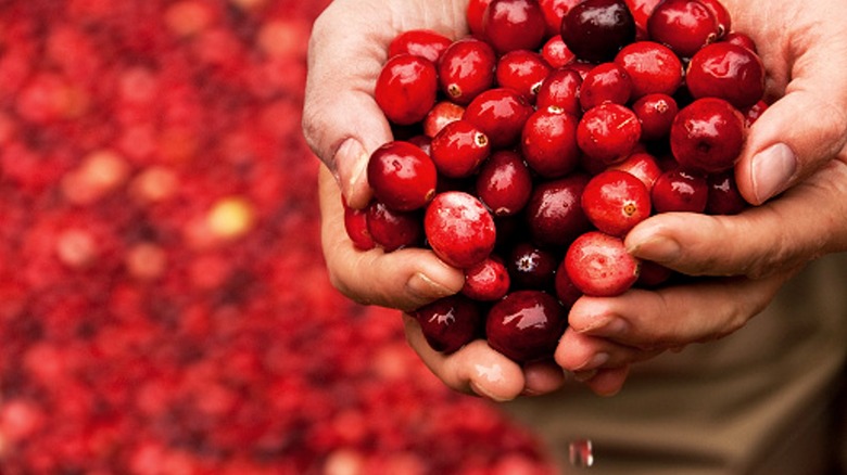
{"type": "Polygon", "coordinates": [[[670,48],[654,41],[623,47],[615,56],[632,81],[632,97],[662,93],[673,95],[682,84],[682,62],[670,48]]]}

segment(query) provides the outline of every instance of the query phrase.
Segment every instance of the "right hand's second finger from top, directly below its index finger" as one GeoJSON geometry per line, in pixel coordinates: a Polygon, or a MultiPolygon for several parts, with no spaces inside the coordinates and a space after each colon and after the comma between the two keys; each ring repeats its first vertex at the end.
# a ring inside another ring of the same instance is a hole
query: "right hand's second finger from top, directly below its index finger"
{"type": "Polygon", "coordinates": [[[744,326],[791,275],[710,279],[618,297],[582,297],[571,308],[569,324],[580,334],[646,350],[709,342],[744,326]]]}

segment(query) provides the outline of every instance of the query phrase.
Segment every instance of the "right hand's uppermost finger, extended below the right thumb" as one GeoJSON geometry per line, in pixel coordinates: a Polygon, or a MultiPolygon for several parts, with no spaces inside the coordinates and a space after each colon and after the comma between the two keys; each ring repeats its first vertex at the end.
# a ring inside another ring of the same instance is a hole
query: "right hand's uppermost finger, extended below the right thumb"
{"type": "Polygon", "coordinates": [[[648,218],[627,235],[627,248],[687,274],[769,275],[847,246],[846,182],[847,165],[831,161],[779,200],[735,216],[648,218]]]}

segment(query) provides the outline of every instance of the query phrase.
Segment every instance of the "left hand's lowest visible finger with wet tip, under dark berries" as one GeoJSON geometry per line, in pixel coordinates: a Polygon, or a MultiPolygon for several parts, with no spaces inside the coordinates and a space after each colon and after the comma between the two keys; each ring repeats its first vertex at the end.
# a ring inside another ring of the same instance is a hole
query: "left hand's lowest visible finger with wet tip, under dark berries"
{"type": "Polygon", "coordinates": [[[511,400],[523,390],[521,368],[484,341],[477,339],[456,352],[443,355],[429,346],[414,317],[404,314],[403,323],[409,346],[447,387],[494,401],[511,400]]]}

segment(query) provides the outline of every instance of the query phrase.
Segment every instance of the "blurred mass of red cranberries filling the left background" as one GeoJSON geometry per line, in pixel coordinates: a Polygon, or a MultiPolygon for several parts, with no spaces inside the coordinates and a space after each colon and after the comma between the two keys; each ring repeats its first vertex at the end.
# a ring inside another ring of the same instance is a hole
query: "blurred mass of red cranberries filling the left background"
{"type": "Polygon", "coordinates": [[[328,282],[325,4],[0,1],[0,473],[549,473],[328,282]]]}

